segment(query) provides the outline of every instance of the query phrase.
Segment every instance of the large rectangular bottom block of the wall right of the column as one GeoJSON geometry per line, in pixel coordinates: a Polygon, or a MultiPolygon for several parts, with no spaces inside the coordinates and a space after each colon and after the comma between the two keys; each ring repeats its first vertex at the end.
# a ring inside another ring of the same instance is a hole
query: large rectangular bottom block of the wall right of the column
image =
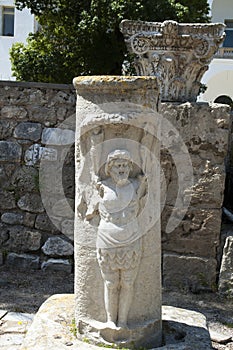
{"type": "Polygon", "coordinates": [[[193,292],[215,290],[217,261],[214,258],[163,254],[163,284],[193,292]]]}

